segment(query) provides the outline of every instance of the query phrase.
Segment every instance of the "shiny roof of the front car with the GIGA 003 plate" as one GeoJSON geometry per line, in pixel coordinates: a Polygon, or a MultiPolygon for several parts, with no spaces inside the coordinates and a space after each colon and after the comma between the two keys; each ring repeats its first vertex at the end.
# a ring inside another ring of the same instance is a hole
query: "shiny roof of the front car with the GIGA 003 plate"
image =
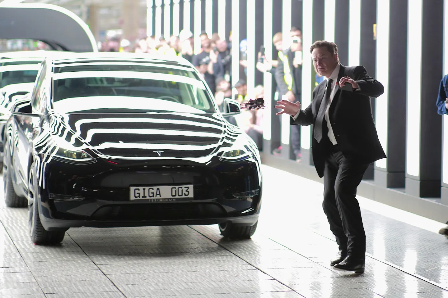
{"type": "Polygon", "coordinates": [[[104,60],[113,61],[123,61],[123,60],[136,60],[139,61],[147,60],[148,62],[171,62],[174,64],[183,64],[192,67],[192,64],[188,60],[177,57],[177,56],[167,56],[167,55],[154,55],[146,53],[120,53],[120,52],[90,52],[90,53],[67,53],[65,55],[57,55],[54,57],[49,57],[54,63],[66,63],[66,62],[95,62],[95,60],[104,62],[104,60]]]}

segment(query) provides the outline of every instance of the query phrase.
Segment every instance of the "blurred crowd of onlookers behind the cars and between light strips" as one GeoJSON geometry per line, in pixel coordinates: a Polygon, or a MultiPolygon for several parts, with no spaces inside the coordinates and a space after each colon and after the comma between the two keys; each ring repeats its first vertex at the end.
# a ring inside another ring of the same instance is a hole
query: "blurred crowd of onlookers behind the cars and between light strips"
{"type": "MultiPolygon", "coordinates": [[[[112,39],[103,42],[100,46],[102,51],[122,51],[135,53],[148,53],[167,56],[179,56],[190,61],[202,75],[208,84],[211,92],[215,95],[220,109],[223,110],[223,102],[225,98],[232,98],[235,93],[236,99],[240,103],[248,101],[247,83],[241,79],[232,86],[232,34],[228,38],[220,37],[217,33],[208,36],[206,32],[202,32],[199,36],[201,40],[200,50],[194,50],[194,35],[189,30],[181,30],[178,36],[170,36],[169,38],[155,38],[150,36],[139,39],[135,42],[128,40],[112,39]],[[234,89],[233,89],[234,88],[234,89]],[[232,91],[233,89],[233,91],[232,91]]],[[[289,101],[301,101],[301,85],[302,85],[302,31],[293,27],[289,32],[289,48],[283,49],[283,34],[278,32],[274,34],[272,42],[276,48],[273,57],[269,60],[264,53],[258,53],[258,63],[256,67],[258,71],[270,72],[276,80],[276,95],[273,99],[286,98],[289,101]]],[[[239,64],[247,69],[247,41],[242,40],[238,46],[240,50],[239,64]]],[[[323,78],[322,78],[323,79],[323,78]]],[[[316,81],[319,78],[316,77],[316,81]]],[[[255,98],[264,98],[263,85],[258,85],[254,89],[255,98]]],[[[244,110],[241,115],[229,118],[230,122],[240,126],[247,134],[254,139],[260,150],[263,149],[263,110],[247,111],[244,110]]],[[[281,123],[281,122],[280,122],[281,123]]],[[[300,162],[300,128],[291,127],[291,146],[293,148],[294,157],[300,162]]],[[[281,155],[280,142],[273,151],[275,155],[281,155]]]]}

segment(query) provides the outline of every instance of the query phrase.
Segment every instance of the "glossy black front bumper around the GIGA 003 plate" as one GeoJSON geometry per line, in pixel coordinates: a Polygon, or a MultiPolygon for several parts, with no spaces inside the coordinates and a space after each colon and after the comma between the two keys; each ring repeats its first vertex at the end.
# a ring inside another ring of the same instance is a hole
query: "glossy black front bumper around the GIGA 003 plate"
{"type": "Polygon", "coordinates": [[[257,221],[261,205],[261,174],[254,160],[215,160],[208,166],[179,160],[171,165],[165,160],[148,166],[100,162],[79,166],[52,160],[45,166],[44,177],[39,188],[39,214],[47,230],[229,221],[250,226],[257,221]],[[166,203],[131,201],[129,187],[142,184],[193,185],[194,198],[166,203]],[[259,194],[252,197],[233,196],[256,189],[259,194]],[[60,200],[58,196],[79,200],[60,200]]]}

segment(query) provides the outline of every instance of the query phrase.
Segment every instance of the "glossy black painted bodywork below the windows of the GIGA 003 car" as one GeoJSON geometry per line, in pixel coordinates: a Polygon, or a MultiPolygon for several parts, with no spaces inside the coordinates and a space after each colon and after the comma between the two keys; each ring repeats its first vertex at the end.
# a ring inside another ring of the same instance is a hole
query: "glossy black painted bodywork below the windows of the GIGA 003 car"
{"type": "MultiPolygon", "coordinates": [[[[31,108],[20,112],[25,110],[31,108]]],[[[38,177],[40,220],[48,231],[229,221],[251,226],[258,220],[262,195],[258,150],[221,113],[55,114],[43,109],[37,114],[15,114],[7,123],[4,176],[11,174],[16,193],[23,197],[28,193],[31,164],[38,177]],[[117,133],[120,129],[125,133],[117,133]],[[82,148],[95,162],[72,164],[55,158],[58,138],[82,148]],[[221,160],[236,140],[242,141],[250,156],[221,160]],[[118,143],[123,146],[110,146],[118,143]],[[165,145],[172,147],[159,155],[165,145]],[[194,198],[171,203],[131,201],[129,187],[143,185],[193,185],[194,198]],[[253,190],[259,193],[234,196],[253,190]],[[64,201],[67,197],[79,201],[64,201]]]]}

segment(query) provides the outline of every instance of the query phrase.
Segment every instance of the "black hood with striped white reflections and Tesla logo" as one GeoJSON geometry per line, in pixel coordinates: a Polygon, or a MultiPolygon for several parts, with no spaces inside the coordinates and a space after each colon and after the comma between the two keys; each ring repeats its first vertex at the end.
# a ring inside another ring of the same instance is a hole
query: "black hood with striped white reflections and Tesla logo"
{"type": "Polygon", "coordinates": [[[226,137],[219,114],[110,113],[65,114],[63,125],[113,159],[193,158],[213,153],[226,137]]]}

